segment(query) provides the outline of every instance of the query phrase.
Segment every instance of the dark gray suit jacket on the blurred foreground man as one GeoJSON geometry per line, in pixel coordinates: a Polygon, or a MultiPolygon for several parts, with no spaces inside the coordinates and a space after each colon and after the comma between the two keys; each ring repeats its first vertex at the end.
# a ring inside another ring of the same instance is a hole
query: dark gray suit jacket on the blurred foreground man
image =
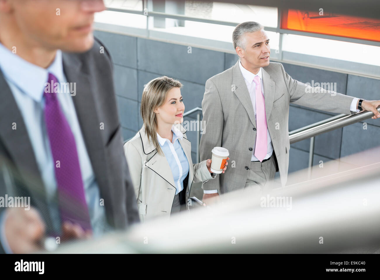
{"type": "MultiPolygon", "coordinates": [[[[112,78],[112,61],[104,46],[95,39],[86,53],[63,53],[67,82],[76,83],[72,96],[95,178],[104,198],[107,221],[114,229],[126,229],[139,221],[136,198],[123,151],[122,128],[117,114],[112,78]],[[104,130],[100,129],[104,123],[104,130]]],[[[20,77],[22,78],[22,77],[20,77]]],[[[0,196],[30,196],[30,203],[51,228],[46,193],[32,144],[13,94],[0,70],[0,167],[8,166],[15,181],[5,188],[0,172],[0,196]],[[12,124],[17,129],[12,129],[12,124]]],[[[0,170],[1,171],[1,170],[0,170]]],[[[5,208],[0,208],[1,212],[5,208]]],[[[3,248],[0,245],[0,253],[3,248]]]]}

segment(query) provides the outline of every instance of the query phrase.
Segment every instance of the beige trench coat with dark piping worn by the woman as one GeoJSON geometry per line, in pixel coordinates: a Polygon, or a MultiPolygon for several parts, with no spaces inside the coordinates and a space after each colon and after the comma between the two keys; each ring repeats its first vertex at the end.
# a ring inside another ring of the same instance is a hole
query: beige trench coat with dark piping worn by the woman
{"type": "MultiPolygon", "coordinates": [[[[189,163],[188,177],[184,180],[185,202],[187,202],[193,182],[206,183],[209,179],[214,179],[217,174],[213,173],[211,176],[206,160],[193,164],[191,143],[186,137],[186,130],[180,124],[176,124],[176,127],[184,134],[184,137],[178,141],[189,163]]],[[[166,216],[169,219],[176,194],[173,174],[166,157],[158,154],[148,140],[144,126],[124,144],[124,153],[135,188],[140,220],[146,221],[158,216],[166,216]]],[[[188,203],[186,206],[188,209],[188,203]]]]}

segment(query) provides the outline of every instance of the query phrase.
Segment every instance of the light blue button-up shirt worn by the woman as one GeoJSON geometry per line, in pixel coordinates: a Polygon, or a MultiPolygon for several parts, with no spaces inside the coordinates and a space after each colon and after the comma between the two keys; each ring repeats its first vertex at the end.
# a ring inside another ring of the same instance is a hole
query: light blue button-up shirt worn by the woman
{"type": "Polygon", "coordinates": [[[173,142],[170,142],[169,139],[162,138],[158,133],[157,139],[165,154],[166,160],[168,160],[171,173],[173,173],[174,186],[176,187],[176,194],[178,194],[184,189],[184,179],[189,172],[189,163],[185,152],[178,141],[178,138],[182,139],[184,134],[182,134],[174,125],[171,130],[173,131],[173,142]]]}

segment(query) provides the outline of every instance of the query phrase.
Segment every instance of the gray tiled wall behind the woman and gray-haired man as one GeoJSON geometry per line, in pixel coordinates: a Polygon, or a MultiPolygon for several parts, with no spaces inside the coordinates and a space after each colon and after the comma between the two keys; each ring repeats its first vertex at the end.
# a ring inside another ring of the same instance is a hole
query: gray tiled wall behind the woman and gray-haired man
{"type": "MultiPolygon", "coordinates": [[[[167,75],[179,80],[184,87],[185,112],[201,107],[204,83],[213,75],[233,66],[236,54],[192,48],[173,43],[159,42],[108,32],[95,31],[95,36],[105,45],[114,63],[114,82],[124,139],[133,137],[142,126],[140,116],[141,94],[144,85],[153,78],[167,75]]],[[[301,82],[333,82],[337,92],[367,100],[380,99],[380,80],[342,74],[312,67],[283,63],[286,72],[301,82]]],[[[289,130],[324,120],[334,114],[290,104],[289,130]]],[[[184,120],[196,119],[196,114],[184,120]]],[[[202,119],[202,117],[201,117],[202,119]]],[[[324,162],[370,149],[380,145],[380,121],[366,120],[342,129],[318,135],[315,138],[313,164],[324,162]]],[[[187,132],[193,143],[195,162],[196,132],[187,132]]],[[[310,140],[291,145],[289,173],[306,168],[309,160],[310,140]]],[[[276,173],[276,177],[279,174],[276,173]]]]}

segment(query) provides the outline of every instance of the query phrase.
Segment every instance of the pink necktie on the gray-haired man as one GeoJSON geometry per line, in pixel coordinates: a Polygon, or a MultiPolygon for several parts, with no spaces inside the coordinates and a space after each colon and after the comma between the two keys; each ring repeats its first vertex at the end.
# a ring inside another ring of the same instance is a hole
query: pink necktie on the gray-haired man
{"type": "Polygon", "coordinates": [[[267,154],[268,150],[268,139],[267,139],[267,130],[266,125],[266,114],[265,114],[265,103],[264,96],[261,93],[261,83],[260,77],[255,76],[253,82],[256,84],[256,147],[255,147],[255,157],[263,161],[264,157],[267,154]]]}

